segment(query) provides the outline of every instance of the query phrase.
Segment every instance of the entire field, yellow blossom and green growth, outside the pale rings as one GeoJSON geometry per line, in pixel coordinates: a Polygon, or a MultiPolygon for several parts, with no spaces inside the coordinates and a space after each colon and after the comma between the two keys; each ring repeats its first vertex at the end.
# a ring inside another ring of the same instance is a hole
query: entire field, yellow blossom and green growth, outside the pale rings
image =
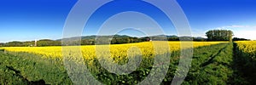
{"type": "MultiPolygon", "coordinates": [[[[255,79],[255,42],[193,42],[191,67],[182,84],[253,84],[255,79]]],[[[117,75],[101,66],[95,46],[81,46],[83,64],[96,80],[105,84],[136,84],[154,69],[154,56],[171,53],[170,65],[162,84],[171,83],[180,58],[180,42],[168,42],[169,49],[154,53],[152,42],[110,45],[113,63],[128,62],[127,52],[137,47],[143,60],[128,75],[117,75]]],[[[136,52],[133,52],[136,53],[136,52]]],[[[73,61],[80,62],[79,59],[73,61]]],[[[103,55],[107,56],[107,55],[103,55]]],[[[9,47],[0,50],[2,84],[73,84],[63,64],[61,47],[9,47]]],[[[105,63],[108,65],[108,63],[105,63]]],[[[161,64],[158,64],[161,65],[161,64]]]]}

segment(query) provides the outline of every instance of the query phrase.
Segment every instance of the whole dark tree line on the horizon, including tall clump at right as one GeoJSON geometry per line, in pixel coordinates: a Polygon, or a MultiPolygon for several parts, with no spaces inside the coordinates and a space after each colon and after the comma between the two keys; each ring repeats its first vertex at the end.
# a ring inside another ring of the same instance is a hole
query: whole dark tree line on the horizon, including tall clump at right
{"type": "MultiPolygon", "coordinates": [[[[77,37],[67,38],[70,39],[70,43],[75,43],[75,45],[95,45],[97,43],[108,44],[121,44],[121,43],[132,43],[132,42],[148,42],[148,41],[180,41],[188,40],[188,41],[197,41],[197,42],[205,42],[205,41],[248,41],[245,38],[234,37],[233,31],[229,30],[211,30],[206,32],[207,38],[203,37],[177,37],[177,36],[152,36],[152,37],[129,37],[125,35],[113,35],[113,36],[87,36],[80,37],[81,41],[76,40],[77,37]],[[103,38],[97,39],[96,38],[103,38]]],[[[45,46],[61,46],[61,45],[70,45],[70,44],[62,44],[62,39],[59,40],[49,40],[43,39],[37,42],[6,42],[0,43],[0,47],[45,47],[45,46]]]]}

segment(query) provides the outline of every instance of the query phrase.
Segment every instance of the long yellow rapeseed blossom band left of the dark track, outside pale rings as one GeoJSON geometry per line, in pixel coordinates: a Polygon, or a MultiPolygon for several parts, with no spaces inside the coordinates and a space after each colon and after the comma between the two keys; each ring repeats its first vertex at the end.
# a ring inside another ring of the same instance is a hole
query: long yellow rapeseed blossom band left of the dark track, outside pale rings
{"type": "MultiPolygon", "coordinates": [[[[126,57],[127,52],[131,47],[135,49],[139,49],[131,53],[142,53],[143,56],[152,56],[154,54],[165,53],[166,50],[160,51],[159,53],[155,53],[154,51],[154,42],[137,42],[137,43],[127,43],[127,44],[113,44],[109,46],[110,53],[112,57],[126,57]]],[[[220,42],[193,42],[193,47],[201,47],[212,44],[218,44],[220,42]]],[[[168,42],[169,44],[169,52],[177,51],[180,49],[180,42],[168,42]]],[[[160,45],[160,44],[158,44],[160,45]]],[[[107,45],[106,45],[107,46],[107,45]]],[[[77,46],[67,46],[67,47],[77,47],[77,46]]],[[[92,59],[96,57],[96,46],[88,45],[88,46],[80,46],[83,57],[85,59],[92,59]]],[[[61,46],[55,47],[8,47],[4,48],[6,51],[10,52],[26,52],[31,54],[41,54],[44,58],[61,58],[62,59],[62,48],[61,46]]]]}

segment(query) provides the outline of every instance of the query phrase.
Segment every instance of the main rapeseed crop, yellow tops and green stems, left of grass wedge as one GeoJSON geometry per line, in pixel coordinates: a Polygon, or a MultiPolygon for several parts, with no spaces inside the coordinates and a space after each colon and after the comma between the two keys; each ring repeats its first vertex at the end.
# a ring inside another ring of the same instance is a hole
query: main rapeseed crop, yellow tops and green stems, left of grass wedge
{"type": "MultiPolygon", "coordinates": [[[[167,72],[168,74],[164,79],[163,84],[172,82],[172,77],[177,70],[180,54],[178,51],[180,50],[180,42],[168,43],[170,49],[162,50],[162,52],[172,52],[172,59],[171,64],[169,65],[169,71],[167,72]]],[[[193,42],[195,49],[199,47],[198,50],[207,50],[210,48],[218,48],[219,46],[224,46],[218,45],[218,43],[220,42],[193,42]],[[202,48],[202,46],[205,46],[205,48],[202,48]]],[[[129,75],[115,75],[109,71],[106,71],[99,64],[96,58],[95,46],[82,46],[81,49],[84,56],[84,63],[86,63],[90,69],[90,72],[94,77],[96,77],[97,80],[105,84],[136,84],[137,82],[141,82],[145,77],[148,76],[148,73],[154,69],[152,67],[154,55],[163,54],[154,53],[154,48],[152,45],[152,42],[139,42],[110,46],[112,55],[108,59],[114,59],[114,62],[119,65],[125,64],[127,62],[128,57],[126,52],[129,50],[129,48],[133,46],[140,48],[141,52],[143,53],[143,61],[137,70],[133,71],[129,75]]],[[[0,63],[3,65],[3,69],[7,65],[13,68],[10,71],[20,71],[19,73],[14,72],[14,75],[20,76],[16,77],[21,79],[20,82],[25,81],[30,83],[44,81],[46,84],[71,83],[71,80],[68,78],[67,72],[63,66],[61,47],[13,47],[4,49],[7,50],[8,53],[0,53],[3,54],[0,63]]],[[[202,51],[197,51],[195,54],[201,54],[200,52],[202,51]]],[[[79,61],[76,59],[73,60],[79,61]]],[[[108,65],[108,63],[106,65],[108,65]]],[[[4,75],[5,71],[2,71],[2,73],[4,75]]],[[[15,79],[13,77],[9,77],[8,74],[4,75],[3,77],[15,79]]],[[[12,80],[3,82],[12,82],[12,80]]]]}

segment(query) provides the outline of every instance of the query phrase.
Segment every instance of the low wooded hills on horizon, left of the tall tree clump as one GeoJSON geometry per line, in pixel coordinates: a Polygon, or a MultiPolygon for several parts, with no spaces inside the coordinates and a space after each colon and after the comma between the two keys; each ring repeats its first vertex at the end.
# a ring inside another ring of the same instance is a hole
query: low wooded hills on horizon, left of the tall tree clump
{"type": "Polygon", "coordinates": [[[28,47],[28,46],[61,46],[61,45],[94,45],[94,44],[121,44],[121,43],[131,43],[131,42],[148,42],[148,41],[207,41],[207,38],[203,37],[177,37],[175,35],[156,35],[150,37],[130,37],[127,35],[113,35],[113,36],[84,36],[84,37],[70,37],[70,38],[62,38],[57,40],[50,39],[41,39],[37,41],[28,41],[28,42],[6,42],[0,43],[0,47],[28,47]],[[96,38],[101,38],[96,41],[96,38]],[[62,44],[62,40],[65,39],[69,42],[62,44]],[[81,39],[81,41],[79,41],[81,39]]]}

